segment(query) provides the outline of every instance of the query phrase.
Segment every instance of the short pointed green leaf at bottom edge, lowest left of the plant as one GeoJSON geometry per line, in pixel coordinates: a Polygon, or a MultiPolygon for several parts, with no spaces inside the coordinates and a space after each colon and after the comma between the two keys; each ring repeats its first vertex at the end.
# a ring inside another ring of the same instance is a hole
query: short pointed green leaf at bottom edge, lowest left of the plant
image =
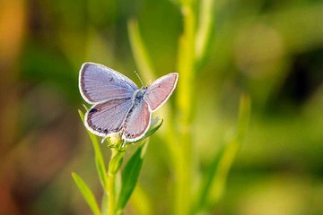
{"type": "Polygon", "coordinates": [[[88,185],[86,185],[83,179],[81,178],[81,176],[78,176],[76,173],[72,173],[72,176],[75,184],[83,194],[83,198],[90,206],[93,214],[100,215],[100,209],[99,209],[98,203],[96,202],[94,194],[92,193],[88,185]]]}

